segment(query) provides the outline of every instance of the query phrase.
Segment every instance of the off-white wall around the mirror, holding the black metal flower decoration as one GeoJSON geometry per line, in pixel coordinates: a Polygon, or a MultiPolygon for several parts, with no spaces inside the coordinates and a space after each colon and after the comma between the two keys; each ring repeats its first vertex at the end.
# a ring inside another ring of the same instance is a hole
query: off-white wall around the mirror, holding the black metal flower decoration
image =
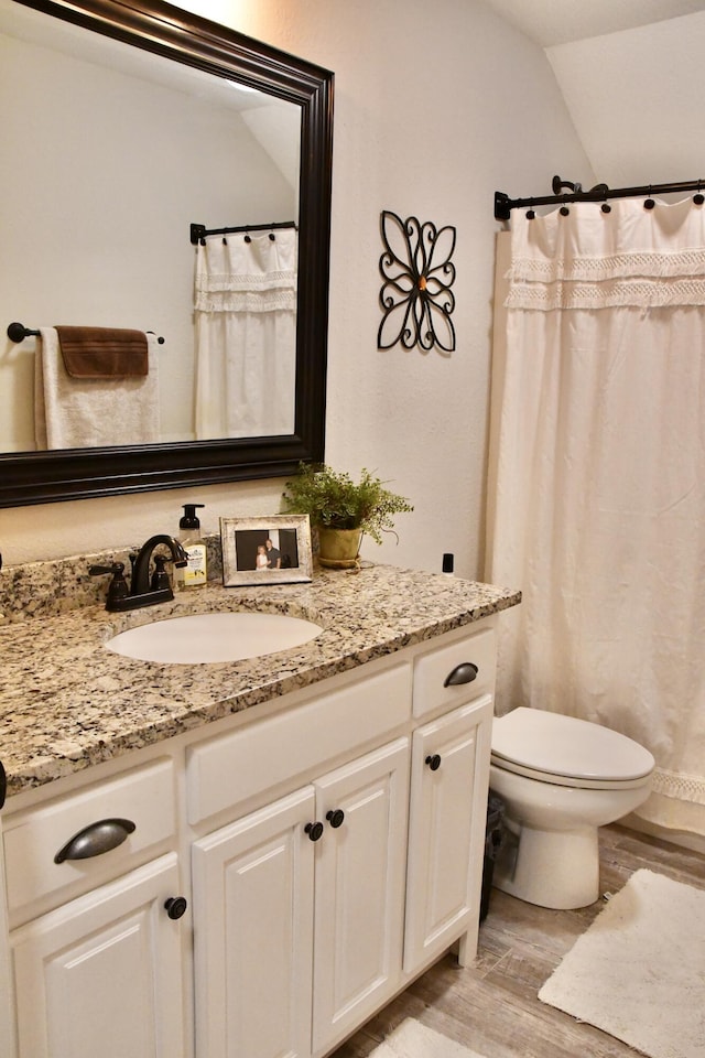
{"type": "MultiPolygon", "coordinates": [[[[543,51],[474,0],[184,0],[336,74],[327,462],[377,469],[415,504],[369,558],[459,575],[481,562],[496,190],[588,171],[543,51]],[[379,217],[457,227],[453,355],[377,350],[379,217]]],[[[278,509],[281,482],[0,511],[14,564],[174,530],[180,505],[278,509]]]]}

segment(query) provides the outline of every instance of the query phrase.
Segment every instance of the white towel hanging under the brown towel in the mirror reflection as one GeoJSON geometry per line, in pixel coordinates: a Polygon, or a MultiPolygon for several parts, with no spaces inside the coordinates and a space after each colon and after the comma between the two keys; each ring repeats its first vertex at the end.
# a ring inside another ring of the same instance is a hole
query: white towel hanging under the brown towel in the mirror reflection
{"type": "Polygon", "coordinates": [[[105,447],[160,441],[156,338],[148,334],[149,374],[72,378],[54,327],[41,327],[34,365],[37,449],[105,447]]]}

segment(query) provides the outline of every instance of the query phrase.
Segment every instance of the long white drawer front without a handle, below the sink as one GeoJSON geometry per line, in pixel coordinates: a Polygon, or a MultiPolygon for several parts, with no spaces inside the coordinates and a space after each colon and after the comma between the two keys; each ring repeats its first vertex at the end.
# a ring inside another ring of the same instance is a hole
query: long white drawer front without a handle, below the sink
{"type": "Polygon", "coordinates": [[[411,715],[411,665],[323,694],[191,751],[188,819],[197,823],[380,738],[411,715]]]}

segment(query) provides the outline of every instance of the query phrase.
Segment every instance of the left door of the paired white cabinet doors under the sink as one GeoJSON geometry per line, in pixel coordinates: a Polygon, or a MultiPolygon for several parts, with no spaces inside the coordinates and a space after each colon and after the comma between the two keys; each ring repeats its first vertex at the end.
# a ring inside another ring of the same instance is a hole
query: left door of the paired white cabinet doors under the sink
{"type": "Polygon", "coordinates": [[[196,1054],[311,1052],[314,792],[195,842],[196,1054]]]}

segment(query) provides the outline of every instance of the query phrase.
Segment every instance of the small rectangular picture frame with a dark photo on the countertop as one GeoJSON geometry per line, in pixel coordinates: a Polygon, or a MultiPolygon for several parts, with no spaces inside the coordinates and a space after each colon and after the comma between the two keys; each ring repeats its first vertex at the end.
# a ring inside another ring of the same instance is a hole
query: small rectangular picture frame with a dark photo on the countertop
{"type": "Polygon", "coordinates": [[[225,587],[313,580],[308,515],[221,518],[220,541],[225,587]]]}

